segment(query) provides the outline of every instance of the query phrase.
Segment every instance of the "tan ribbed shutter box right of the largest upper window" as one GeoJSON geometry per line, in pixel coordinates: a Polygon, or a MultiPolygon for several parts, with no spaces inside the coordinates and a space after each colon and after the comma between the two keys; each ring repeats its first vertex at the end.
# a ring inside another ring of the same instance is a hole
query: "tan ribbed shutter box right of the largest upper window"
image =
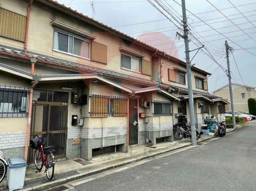
{"type": "Polygon", "coordinates": [[[107,63],[107,46],[92,41],[92,60],[107,63]]]}

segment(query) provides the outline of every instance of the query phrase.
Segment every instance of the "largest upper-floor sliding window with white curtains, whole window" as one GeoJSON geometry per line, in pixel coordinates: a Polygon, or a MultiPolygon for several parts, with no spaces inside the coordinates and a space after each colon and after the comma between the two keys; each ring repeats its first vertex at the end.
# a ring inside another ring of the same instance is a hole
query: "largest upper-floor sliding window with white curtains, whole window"
{"type": "Polygon", "coordinates": [[[54,30],[53,49],[90,59],[90,41],[62,30],[54,30]]]}

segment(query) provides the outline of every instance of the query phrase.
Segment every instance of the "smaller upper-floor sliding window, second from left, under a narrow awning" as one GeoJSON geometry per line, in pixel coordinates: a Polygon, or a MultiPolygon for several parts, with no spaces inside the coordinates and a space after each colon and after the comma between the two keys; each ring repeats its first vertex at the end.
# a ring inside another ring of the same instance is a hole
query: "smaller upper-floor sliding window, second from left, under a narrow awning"
{"type": "Polygon", "coordinates": [[[121,68],[140,73],[141,59],[132,55],[121,53],[121,68]]]}

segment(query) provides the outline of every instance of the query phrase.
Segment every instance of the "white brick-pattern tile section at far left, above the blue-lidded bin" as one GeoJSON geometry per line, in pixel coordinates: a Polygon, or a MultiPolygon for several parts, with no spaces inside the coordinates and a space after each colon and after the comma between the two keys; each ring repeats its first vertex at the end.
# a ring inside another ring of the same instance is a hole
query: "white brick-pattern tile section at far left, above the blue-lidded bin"
{"type": "Polygon", "coordinates": [[[0,150],[24,147],[26,134],[26,131],[0,133],[0,150]]]}

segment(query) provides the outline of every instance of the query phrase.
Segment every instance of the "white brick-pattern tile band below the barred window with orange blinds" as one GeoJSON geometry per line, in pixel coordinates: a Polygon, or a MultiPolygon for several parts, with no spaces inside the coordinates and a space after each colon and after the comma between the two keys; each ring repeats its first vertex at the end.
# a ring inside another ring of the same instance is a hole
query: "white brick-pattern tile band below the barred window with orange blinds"
{"type": "MultiPolygon", "coordinates": [[[[127,126],[107,126],[103,127],[103,137],[127,135],[127,126]]],[[[95,139],[102,137],[102,127],[82,128],[82,138],[95,139]]]]}

